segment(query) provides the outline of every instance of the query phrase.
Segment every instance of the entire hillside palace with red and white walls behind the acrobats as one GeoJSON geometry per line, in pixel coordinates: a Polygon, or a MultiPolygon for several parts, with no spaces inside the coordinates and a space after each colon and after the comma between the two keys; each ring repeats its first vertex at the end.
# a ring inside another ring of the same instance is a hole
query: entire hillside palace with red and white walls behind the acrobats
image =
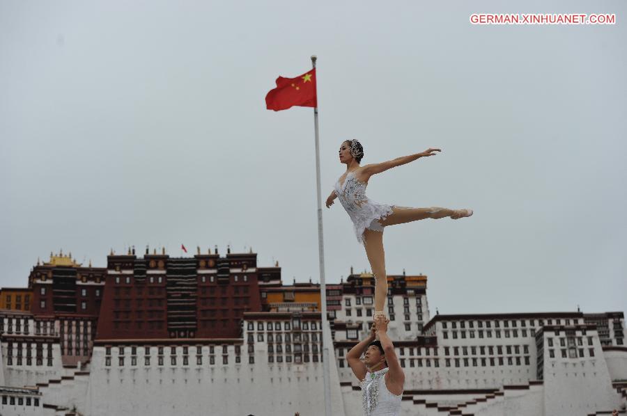
{"type": "MultiPolygon", "coordinates": [[[[624,312],[431,316],[425,275],[389,275],[403,415],[625,413],[624,312]]],[[[374,280],[284,285],[278,264],[217,248],[111,253],[107,268],[50,255],[0,291],[0,415],[361,416],[346,353],[366,337],[374,280]]]]}

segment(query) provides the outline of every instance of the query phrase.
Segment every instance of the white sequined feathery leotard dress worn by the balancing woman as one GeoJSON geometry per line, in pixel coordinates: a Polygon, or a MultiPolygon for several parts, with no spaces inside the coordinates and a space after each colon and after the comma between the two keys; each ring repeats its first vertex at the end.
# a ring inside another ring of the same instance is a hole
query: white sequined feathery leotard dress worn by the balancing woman
{"type": "Polygon", "coordinates": [[[392,214],[392,207],[396,205],[380,204],[366,197],[366,186],[355,177],[355,172],[346,175],[344,183],[339,180],[335,184],[335,194],[348,216],[353,220],[357,241],[364,243],[364,230],[383,231],[379,219],[392,214]]]}

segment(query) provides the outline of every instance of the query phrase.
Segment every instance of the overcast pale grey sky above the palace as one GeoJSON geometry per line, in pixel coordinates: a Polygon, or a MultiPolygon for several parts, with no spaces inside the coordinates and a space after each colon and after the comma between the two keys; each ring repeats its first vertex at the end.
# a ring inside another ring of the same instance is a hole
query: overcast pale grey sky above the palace
{"type": "MultiPolygon", "coordinates": [[[[385,230],[431,313],[627,309],[624,1],[0,1],[0,286],[63,248],[258,253],[318,281],[313,110],[265,109],[318,55],[323,195],[357,138],[389,204],[474,216],[385,230]],[[616,13],[474,26],[472,13],[616,13]]],[[[369,269],[324,209],[327,282],[369,269]]]]}

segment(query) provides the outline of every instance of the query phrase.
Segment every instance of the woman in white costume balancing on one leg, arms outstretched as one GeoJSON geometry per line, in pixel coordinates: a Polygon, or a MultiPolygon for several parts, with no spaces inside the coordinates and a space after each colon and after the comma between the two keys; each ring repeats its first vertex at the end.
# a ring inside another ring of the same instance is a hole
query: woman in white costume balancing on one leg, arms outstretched
{"type": "Polygon", "coordinates": [[[336,182],[334,191],[327,198],[327,208],[339,198],[348,216],[353,220],[357,241],[366,248],[366,256],[375,276],[375,314],[385,317],[383,307],[387,296],[387,275],[383,253],[383,227],[424,220],[451,217],[456,220],[472,215],[472,209],[448,209],[441,207],[411,208],[380,204],[366,197],[366,186],[372,175],[385,172],[396,166],[415,161],[420,157],[434,156],[440,149],[427,149],[424,152],[397,157],[382,163],[359,166],[364,157],[364,147],[356,140],[344,141],[339,149],[340,162],[346,165],[344,173],[336,182]]]}

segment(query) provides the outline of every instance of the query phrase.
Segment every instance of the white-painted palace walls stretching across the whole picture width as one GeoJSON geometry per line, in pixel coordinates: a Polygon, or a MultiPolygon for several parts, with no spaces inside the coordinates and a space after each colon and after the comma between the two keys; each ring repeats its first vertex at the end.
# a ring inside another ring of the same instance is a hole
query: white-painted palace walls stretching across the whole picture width
{"type": "MultiPolygon", "coordinates": [[[[394,307],[400,312],[405,306],[398,303],[394,307]]],[[[417,305],[410,307],[410,314],[417,316],[417,305]]],[[[622,346],[603,346],[594,326],[555,318],[557,326],[529,318],[523,324],[520,317],[516,323],[509,317],[505,326],[503,320],[496,323],[498,319],[491,318],[488,336],[488,319],[475,316],[463,324],[456,319],[455,325],[441,318],[430,324],[427,338],[431,345],[419,346],[420,340],[408,339],[404,328],[397,331],[403,338],[399,345],[405,345],[396,346],[406,375],[403,415],[448,415],[449,410],[438,410],[438,406],[463,405],[459,410],[476,416],[587,416],[621,405],[612,381],[627,378],[627,351],[622,346]],[[484,331],[481,335],[480,328],[484,331]],[[496,330],[500,330],[499,336],[496,330]],[[497,390],[499,394],[489,393],[497,390]],[[478,394],[483,399],[473,403],[478,394]]],[[[403,319],[390,326],[398,330],[404,326],[403,319]]],[[[330,328],[327,331],[331,336],[330,328]]],[[[361,416],[361,391],[355,388],[358,381],[346,365],[348,348],[342,335],[346,331],[336,333],[343,346],[329,351],[332,413],[361,416]]],[[[322,337],[314,314],[251,314],[243,321],[242,338],[238,339],[137,339],[108,344],[99,340],[84,371],[63,367],[58,342],[52,343],[52,366],[47,366],[47,347],[42,365],[26,365],[24,349],[28,345],[22,342],[18,354],[16,335],[10,339],[10,354],[4,337],[1,342],[0,374],[4,384],[13,387],[0,391],[3,399],[6,397],[6,403],[0,405],[1,415],[63,414],[64,410],[55,410],[55,406],[76,407],[90,416],[274,416],[296,412],[318,416],[324,412],[322,337]],[[11,365],[6,363],[8,355],[11,365]],[[297,359],[298,355],[302,356],[297,359]],[[21,365],[17,365],[18,356],[21,365]],[[36,383],[39,387],[32,390],[17,388],[36,383]],[[20,397],[24,397],[22,404],[18,403],[20,397]],[[26,406],[26,397],[38,397],[39,406],[26,406]]],[[[31,356],[34,360],[34,351],[31,356]]]]}

